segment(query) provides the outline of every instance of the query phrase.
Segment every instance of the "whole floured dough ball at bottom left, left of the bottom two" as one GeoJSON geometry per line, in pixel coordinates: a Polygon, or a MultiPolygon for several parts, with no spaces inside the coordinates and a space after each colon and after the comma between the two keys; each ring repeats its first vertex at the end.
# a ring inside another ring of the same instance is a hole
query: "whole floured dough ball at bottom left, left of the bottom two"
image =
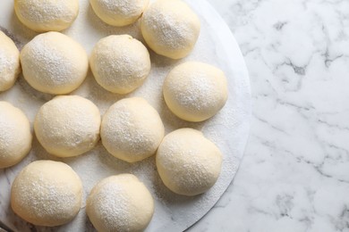
{"type": "Polygon", "coordinates": [[[11,206],[23,220],[55,227],[80,211],[81,179],[64,162],[31,162],[14,179],[11,206]]]}

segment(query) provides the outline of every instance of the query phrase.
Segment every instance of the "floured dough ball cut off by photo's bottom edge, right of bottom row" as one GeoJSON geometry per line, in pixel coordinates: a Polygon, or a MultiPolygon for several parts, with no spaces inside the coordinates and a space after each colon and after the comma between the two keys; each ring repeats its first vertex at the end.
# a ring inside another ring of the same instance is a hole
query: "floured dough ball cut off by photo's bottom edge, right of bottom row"
{"type": "Polygon", "coordinates": [[[143,231],[153,216],[154,201],[138,178],[122,174],[93,187],[86,212],[98,231],[143,231]]]}

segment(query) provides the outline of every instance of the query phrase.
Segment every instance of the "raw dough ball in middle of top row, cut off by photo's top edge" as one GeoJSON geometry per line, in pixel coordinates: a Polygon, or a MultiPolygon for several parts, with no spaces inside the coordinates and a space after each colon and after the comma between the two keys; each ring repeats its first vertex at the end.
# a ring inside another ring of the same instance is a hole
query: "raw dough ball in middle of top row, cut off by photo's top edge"
{"type": "Polygon", "coordinates": [[[89,0],[89,3],[102,21],[123,27],[140,18],[149,0],[89,0]]]}

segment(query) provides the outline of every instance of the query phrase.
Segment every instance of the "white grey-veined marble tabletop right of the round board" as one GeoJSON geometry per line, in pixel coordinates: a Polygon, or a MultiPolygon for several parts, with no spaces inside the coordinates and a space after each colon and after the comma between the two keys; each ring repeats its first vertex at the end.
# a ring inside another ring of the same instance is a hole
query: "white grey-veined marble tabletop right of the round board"
{"type": "Polygon", "coordinates": [[[190,231],[349,231],[349,1],[209,0],[251,76],[234,183],[190,231]]]}

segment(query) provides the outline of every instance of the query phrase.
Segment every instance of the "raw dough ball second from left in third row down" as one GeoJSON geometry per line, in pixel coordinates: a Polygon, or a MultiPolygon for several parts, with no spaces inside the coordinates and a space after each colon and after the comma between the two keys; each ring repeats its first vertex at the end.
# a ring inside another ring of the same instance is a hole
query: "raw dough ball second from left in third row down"
{"type": "Polygon", "coordinates": [[[98,142],[99,128],[97,106],[78,95],[56,96],[41,106],[34,122],[38,142],[59,157],[91,150],[98,142]]]}

